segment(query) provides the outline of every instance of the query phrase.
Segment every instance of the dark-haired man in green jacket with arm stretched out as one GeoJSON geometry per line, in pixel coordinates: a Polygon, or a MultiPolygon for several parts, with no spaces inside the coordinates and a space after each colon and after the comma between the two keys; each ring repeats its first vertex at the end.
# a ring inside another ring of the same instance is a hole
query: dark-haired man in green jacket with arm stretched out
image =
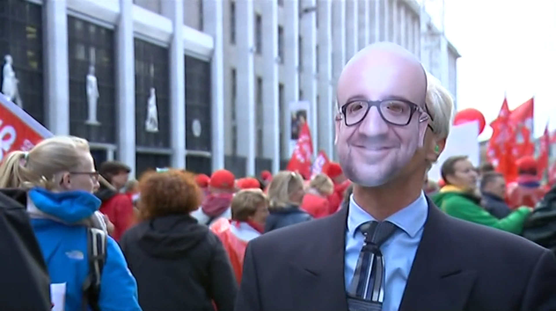
{"type": "Polygon", "coordinates": [[[442,164],[440,174],[446,185],[433,196],[433,202],[446,214],[514,234],[522,233],[523,223],[532,209],[520,207],[503,219],[486,211],[480,205],[478,175],[467,156],[449,157],[442,164]]]}

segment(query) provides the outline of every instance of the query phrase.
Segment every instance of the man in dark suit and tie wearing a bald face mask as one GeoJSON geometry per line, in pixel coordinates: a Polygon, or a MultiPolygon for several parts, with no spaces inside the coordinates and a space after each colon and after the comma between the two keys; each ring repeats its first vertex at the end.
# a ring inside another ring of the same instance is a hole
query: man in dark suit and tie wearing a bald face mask
{"type": "Polygon", "coordinates": [[[337,85],[335,139],[354,183],[349,206],[252,240],[237,311],[556,309],[552,253],[451,218],[423,194],[453,108],[427,81],[393,43],[351,58],[337,85]]]}

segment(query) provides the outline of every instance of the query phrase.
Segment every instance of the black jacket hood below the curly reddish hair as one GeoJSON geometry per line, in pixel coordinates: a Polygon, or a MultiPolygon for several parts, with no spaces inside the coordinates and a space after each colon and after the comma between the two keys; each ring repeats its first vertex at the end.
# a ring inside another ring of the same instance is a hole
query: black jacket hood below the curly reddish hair
{"type": "Polygon", "coordinates": [[[189,215],[168,215],[137,227],[138,245],[147,254],[164,259],[183,258],[206,239],[209,228],[189,215]]]}

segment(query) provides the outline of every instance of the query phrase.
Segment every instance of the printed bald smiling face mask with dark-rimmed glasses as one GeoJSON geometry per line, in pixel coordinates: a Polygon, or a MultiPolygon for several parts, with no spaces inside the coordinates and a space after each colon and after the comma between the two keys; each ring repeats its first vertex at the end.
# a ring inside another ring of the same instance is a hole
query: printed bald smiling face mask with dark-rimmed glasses
{"type": "Polygon", "coordinates": [[[351,58],[337,85],[335,139],[350,180],[380,186],[424,165],[425,98],[425,70],[403,47],[375,43],[351,58]]]}

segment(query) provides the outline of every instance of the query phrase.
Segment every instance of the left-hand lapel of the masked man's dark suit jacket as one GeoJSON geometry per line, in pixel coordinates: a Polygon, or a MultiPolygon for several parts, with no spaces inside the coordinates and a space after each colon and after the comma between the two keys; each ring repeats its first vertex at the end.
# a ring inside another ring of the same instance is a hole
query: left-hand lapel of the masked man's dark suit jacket
{"type": "MultiPolygon", "coordinates": [[[[290,263],[292,310],[347,310],[344,254],[347,209],[322,220],[317,243],[307,245],[306,255],[290,263]]],[[[300,237],[301,238],[301,237],[300,237]]],[[[314,239],[311,239],[314,240],[314,239]]]]}

